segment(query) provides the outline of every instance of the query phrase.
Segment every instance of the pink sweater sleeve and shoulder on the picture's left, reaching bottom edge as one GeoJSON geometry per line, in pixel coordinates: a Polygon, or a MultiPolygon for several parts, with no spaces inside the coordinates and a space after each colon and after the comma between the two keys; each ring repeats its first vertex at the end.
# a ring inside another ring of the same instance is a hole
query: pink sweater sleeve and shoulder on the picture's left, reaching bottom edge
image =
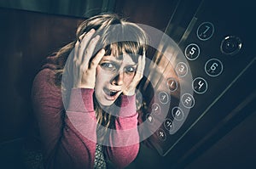
{"type": "Polygon", "coordinates": [[[61,89],[50,81],[53,77],[53,70],[41,70],[32,86],[32,104],[44,146],[45,168],[93,168],[96,150],[96,142],[93,138],[96,137],[96,128],[88,127],[83,121],[88,118],[95,119],[91,104],[93,90],[83,89],[80,90],[81,93],[77,89],[72,90],[67,117],[62,104],[61,89]],[[76,104],[79,94],[87,100],[84,105],[76,104]],[[80,111],[86,106],[85,111],[80,111]],[[85,127],[92,139],[85,138],[78,128],[73,126],[72,121],[78,122],[79,127],[85,127]]]}

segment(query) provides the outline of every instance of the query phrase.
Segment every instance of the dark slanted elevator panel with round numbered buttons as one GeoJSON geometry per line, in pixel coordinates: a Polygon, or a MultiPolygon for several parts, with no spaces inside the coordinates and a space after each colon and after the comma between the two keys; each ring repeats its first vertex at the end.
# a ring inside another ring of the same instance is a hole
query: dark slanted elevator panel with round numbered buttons
{"type": "MultiPolygon", "coordinates": [[[[177,78],[162,74],[160,82],[166,90],[160,91],[159,100],[151,107],[154,122],[168,112],[154,136],[148,138],[160,155],[172,151],[255,59],[253,38],[247,33],[247,29],[254,29],[239,24],[239,21],[247,24],[243,20],[246,16],[236,13],[239,3],[234,8],[227,8],[230,3],[225,3],[217,11],[205,10],[212,4],[210,1],[202,3],[189,22],[191,25],[184,29],[186,31],[181,36],[184,39],[177,41],[186,59],[177,59],[172,65],[177,78]],[[223,19],[219,20],[213,13],[223,19]],[[236,17],[229,18],[227,13],[236,17]],[[189,73],[192,74],[191,82],[186,81],[189,73]],[[190,87],[192,93],[183,91],[183,86],[190,87]],[[167,105],[170,105],[169,110],[166,110],[167,105]]],[[[171,26],[175,25],[171,23],[171,26]]]]}

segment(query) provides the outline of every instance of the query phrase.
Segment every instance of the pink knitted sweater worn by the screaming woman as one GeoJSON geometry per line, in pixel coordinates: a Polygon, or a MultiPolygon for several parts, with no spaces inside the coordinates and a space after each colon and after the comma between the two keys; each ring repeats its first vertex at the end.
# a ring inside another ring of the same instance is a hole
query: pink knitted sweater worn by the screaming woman
{"type": "MultiPolygon", "coordinates": [[[[65,110],[61,88],[54,85],[54,66],[46,66],[38,72],[32,87],[33,110],[38,122],[44,148],[44,164],[52,169],[93,168],[96,154],[96,113],[93,108],[93,89],[75,88],[65,110]],[[82,99],[82,102],[81,100],[82,99]],[[84,103],[84,104],[79,104],[84,103]],[[87,136],[90,136],[88,138],[87,136]]],[[[135,96],[121,96],[119,117],[115,132],[110,133],[104,154],[116,168],[124,168],[133,161],[139,149],[138,132],[123,134],[137,127],[135,96]],[[136,143],[136,144],[129,144],[136,143]],[[126,146],[115,146],[128,143],[126,146]]]]}

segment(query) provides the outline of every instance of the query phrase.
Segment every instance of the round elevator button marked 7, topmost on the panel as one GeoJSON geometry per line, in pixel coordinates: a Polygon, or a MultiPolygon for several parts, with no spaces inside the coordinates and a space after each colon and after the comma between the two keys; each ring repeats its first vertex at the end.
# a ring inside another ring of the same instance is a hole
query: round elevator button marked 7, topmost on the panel
{"type": "Polygon", "coordinates": [[[198,26],[196,35],[201,41],[207,41],[214,33],[214,25],[211,22],[203,22],[198,26]]]}

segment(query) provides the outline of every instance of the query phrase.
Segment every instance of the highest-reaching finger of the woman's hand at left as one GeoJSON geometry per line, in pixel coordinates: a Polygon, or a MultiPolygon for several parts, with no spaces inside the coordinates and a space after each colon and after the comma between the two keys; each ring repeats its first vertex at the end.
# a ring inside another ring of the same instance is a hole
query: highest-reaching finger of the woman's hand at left
{"type": "Polygon", "coordinates": [[[88,33],[86,33],[82,39],[82,41],[79,43],[79,54],[78,54],[78,62],[81,63],[83,56],[84,56],[84,50],[87,47],[88,43],[90,42],[91,37],[95,33],[94,29],[91,29],[88,33]]]}

